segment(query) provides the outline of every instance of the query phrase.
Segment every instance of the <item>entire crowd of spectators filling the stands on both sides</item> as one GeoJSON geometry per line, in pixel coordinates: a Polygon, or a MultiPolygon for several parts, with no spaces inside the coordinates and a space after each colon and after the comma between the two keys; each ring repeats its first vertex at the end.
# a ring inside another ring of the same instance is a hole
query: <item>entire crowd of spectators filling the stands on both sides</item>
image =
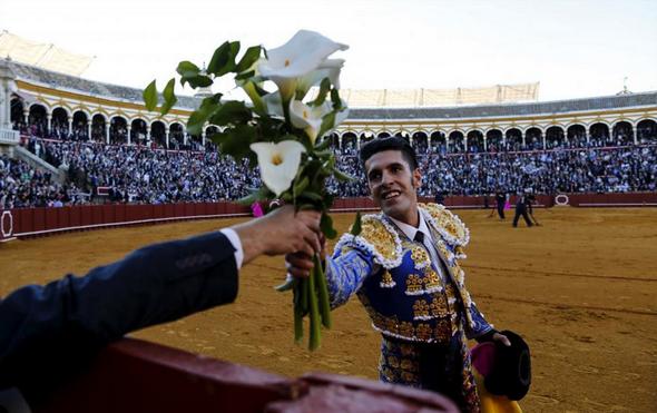
{"type": "MultiPolygon", "coordinates": [[[[654,139],[651,139],[654,141],[654,139]]],[[[216,150],[161,150],[30,138],[27,147],[65,170],[67,186],[27,164],[2,158],[4,207],[58,206],[86,201],[165,204],[237,199],[261,185],[257,168],[216,150]],[[78,190],[79,188],[79,190],[78,190]]],[[[337,166],[356,179],[327,183],[341,197],[366,196],[355,146],[336,151],[337,166]]],[[[420,195],[487,195],[532,188],[539,194],[657,190],[657,145],[563,148],[518,153],[450,154],[419,150],[420,195]]]]}

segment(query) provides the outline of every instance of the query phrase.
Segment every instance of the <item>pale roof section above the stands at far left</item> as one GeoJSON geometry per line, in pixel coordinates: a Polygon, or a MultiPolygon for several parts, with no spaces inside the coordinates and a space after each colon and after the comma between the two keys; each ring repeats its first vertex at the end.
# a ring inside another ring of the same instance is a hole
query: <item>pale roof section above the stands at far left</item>
{"type": "Polygon", "coordinates": [[[80,76],[87,70],[92,56],[75,55],[52,43],[39,43],[10,33],[0,32],[0,57],[60,73],[80,76]]]}

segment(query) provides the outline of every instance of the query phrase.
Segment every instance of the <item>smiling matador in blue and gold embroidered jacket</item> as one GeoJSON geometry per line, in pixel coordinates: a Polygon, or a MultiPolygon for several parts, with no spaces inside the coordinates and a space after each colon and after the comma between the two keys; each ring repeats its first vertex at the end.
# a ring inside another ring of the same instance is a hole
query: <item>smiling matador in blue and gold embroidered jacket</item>
{"type": "MultiPolygon", "coordinates": [[[[422,183],[413,148],[402,138],[361,149],[372,198],[382,213],[362,219],[326,258],[332,307],[356,294],[381,332],[380,380],[440,392],[467,412],[480,411],[467,338],[501,341],[464,285],[459,259],[469,232],[437,204],[418,203],[422,183]]],[[[302,257],[288,255],[302,276],[302,257]]],[[[305,260],[307,262],[307,259],[305,260]]]]}

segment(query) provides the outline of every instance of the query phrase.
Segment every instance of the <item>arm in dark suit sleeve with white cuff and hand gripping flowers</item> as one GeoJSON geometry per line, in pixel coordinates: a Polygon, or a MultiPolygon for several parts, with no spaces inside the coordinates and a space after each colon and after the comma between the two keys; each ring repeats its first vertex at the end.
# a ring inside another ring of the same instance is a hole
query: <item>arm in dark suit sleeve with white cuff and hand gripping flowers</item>
{"type": "Polygon", "coordinates": [[[0,390],[16,386],[38,401],[107,343],[232,303],[239,267],[258,255],[320,252],[318,232],[318,213],[284,206],[219,232],[146,246],[82,277],[21,287],[0,299],[0,390]]]}

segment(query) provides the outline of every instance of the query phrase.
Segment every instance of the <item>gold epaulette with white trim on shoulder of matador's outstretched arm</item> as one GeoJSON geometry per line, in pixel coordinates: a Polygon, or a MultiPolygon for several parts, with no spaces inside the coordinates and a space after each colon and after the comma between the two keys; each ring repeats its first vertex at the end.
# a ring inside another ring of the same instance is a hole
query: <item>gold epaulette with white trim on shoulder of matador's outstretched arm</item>
{"type": "Polygon", "coordinates": [[[335,244],[335,252],[345,246],[365,249],[374,256],[375,263],[386,269],[395,268],[402,263],[402,242],[382,214],[363,216],[361,234],[344,234],[335,244]]]}

